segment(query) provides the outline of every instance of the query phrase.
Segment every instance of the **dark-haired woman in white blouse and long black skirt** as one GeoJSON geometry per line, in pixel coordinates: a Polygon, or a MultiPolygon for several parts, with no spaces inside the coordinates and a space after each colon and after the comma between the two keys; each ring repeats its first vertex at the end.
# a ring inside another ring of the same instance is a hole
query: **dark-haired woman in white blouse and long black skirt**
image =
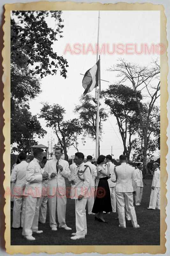
{"type": "Polygon", "coordinates": [[[105,172],[103,164],[106,163],[106,156],[100,155],[97,159],[97,178],[99,179],[96,198],[94,201],[93,213],[97,213],[95,220],[107,223],[103,218],[104,212],[112,212],[110,189],[107,180],[110,179],[109,168],[105,172]]]}

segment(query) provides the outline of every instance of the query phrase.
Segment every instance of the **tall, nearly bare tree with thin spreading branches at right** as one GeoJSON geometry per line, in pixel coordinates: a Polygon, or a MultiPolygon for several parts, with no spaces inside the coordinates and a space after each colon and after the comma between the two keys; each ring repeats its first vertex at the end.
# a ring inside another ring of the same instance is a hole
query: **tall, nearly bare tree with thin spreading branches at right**
{"type": "Polygon", "coordinates": [[[131,86],[131,88],[134,90],[141,130],[144,139],[143,165],[145,166],[148,149],[148,129],[150,123],[150,115],[155,101],[160,96],[160,66],[158,61],[154,61],[147,67],[141,67],[137,64],[128,63],[122,59],[117,65],[114,65],[109,70],[118,72],[118,77],[121,77],[119,83],[129,83],[129,86],[131,86]],[[139,92],[141,92],[143,100],[149,100],[148,111],[145,117],[142,114],[142,105],[139,92]]]}

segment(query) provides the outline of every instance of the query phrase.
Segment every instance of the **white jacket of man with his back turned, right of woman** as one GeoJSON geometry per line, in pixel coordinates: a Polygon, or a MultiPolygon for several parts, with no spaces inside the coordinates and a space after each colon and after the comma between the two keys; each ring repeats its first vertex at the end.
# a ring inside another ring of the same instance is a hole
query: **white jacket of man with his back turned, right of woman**
{"type": "Polygon", "coordinates": [[[133,192],[136,191],[136,173],[135,168],[122,163],[115,167],[115,175],[117,177],[115,192],[133,192]]]}

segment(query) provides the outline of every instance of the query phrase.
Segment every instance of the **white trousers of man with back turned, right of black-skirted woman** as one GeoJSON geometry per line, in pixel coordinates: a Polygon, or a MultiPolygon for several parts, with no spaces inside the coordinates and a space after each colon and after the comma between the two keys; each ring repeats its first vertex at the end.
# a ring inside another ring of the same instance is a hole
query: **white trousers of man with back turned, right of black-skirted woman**
{"type": "Polygon", "coordinates": [[[133,206],[133,193],[132,192],[116,192],[116,204],[119,216],[119,223],[121,227],[126,227],[125,221],[125,204],[133,227],[137,226],[137,217],[135,207],[133,206]]]}

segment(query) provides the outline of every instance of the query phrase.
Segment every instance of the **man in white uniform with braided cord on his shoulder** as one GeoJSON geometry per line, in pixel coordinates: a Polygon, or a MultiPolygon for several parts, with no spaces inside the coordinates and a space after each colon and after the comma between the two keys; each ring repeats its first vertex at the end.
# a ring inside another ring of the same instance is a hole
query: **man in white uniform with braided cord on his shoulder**
{"type": "Polygon", "coordinates": [[[72,233],[72,240],[85,238],[87,235],[87,222],[85,214],[85,205],[89,194],[87,190],[90,187],[91,172],[84,161],[84,155],[81,152],[75,154],[76,168],[75,177],[75,213],[76,213],[76,233],[72,233]]]}

